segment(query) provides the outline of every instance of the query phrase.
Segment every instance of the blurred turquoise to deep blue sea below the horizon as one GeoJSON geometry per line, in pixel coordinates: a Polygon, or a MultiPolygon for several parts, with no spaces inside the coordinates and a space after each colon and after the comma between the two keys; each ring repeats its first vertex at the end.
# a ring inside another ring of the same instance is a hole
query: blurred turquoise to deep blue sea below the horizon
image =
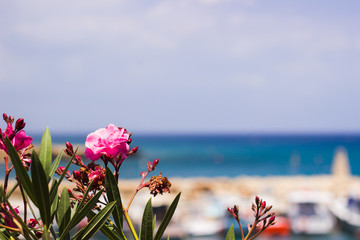
{"type": "MultiPolygon", "coordinates": [[[[40,142],[41,136],[33,136],[40,142]]],[[[84,146],[86,135],[52,135],[55,144],[84,146]]],[[[334,154],[346,150],[352,174],[360,175],[359,135],[133,135],[121,178],[137,178],[159,158],[168,177],[236,177],[330,174],[334,154]]]]}

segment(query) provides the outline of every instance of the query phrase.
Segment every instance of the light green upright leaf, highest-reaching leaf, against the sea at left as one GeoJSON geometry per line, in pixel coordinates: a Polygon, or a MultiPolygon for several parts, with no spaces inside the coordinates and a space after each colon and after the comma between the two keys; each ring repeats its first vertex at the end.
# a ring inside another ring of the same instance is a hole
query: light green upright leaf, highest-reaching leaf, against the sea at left
{"type": "Polygon", "coordinates": [[[45,129],[45,132],[42,136],[39,158],[41,164],[44,167],[46,179],[48,179],[50,175],[50,165],[52,158],[52,145],[51,145],[51,136],[50,136],[49,128],[45,129]]]}

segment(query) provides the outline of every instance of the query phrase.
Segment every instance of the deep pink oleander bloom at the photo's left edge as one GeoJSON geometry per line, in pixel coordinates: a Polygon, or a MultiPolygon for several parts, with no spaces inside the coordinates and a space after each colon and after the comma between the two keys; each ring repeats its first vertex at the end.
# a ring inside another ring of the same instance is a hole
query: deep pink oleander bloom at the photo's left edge
{"type": "MultiPolygon", "coordinates": [[[[0,129],[0,133],[1,133],[1,129],[0,129]]],[[[8,137],[11,140],[11,143],[15,147],[16,151],[28,147],[33,140],[31,137],[26,136],[24,130],[16,132],[13,129],[12,124],[8,123],[5,131],[2,133],[0,140],[0,149],[4,150],[6,153],[8,152],[8,150],[5,146],[5,143],[3,142],[5,137],[8,137]]]]}

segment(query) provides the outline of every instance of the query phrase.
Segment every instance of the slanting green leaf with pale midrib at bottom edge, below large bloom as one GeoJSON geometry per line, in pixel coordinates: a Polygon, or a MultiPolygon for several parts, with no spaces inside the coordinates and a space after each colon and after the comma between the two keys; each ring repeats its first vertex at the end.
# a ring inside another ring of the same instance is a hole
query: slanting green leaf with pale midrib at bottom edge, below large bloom
{"type": "Polygon", "coordinates": [[[105,208],[100,210],[94,218],[90,220],[85,227],[80,230],[73,238],[87,240],[90,239],[100,228],[105,224],[107,218],[110,216],[111,212],[115,208],[115,202],[111,202],[106,205],[105,208]]]}

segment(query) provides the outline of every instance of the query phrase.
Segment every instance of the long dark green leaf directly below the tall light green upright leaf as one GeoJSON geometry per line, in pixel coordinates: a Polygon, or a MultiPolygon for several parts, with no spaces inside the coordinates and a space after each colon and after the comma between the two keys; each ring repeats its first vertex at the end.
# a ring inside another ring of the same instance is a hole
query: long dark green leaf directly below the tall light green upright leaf
{"type": "Polygon", "coordinates": [[[32,152],[31,177],[34,186],[35,199],[45,226],[50,227],[50,194],[47,177],[43,165],[35,151],[32,152]],[[36,187],[35,187],[36,186],[36,187]]]}

